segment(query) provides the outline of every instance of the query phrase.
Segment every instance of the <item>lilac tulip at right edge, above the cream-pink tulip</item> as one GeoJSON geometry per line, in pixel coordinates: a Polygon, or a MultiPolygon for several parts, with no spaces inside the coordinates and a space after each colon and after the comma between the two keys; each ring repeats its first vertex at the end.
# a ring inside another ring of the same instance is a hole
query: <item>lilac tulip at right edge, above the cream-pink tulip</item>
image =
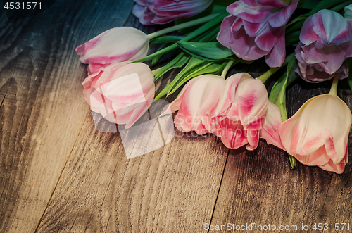
{"type": "Polygon", "coordinates": [[[296,72],[307,82],[348,76],[345,59],[352,56],[348,23],[339,13],[321,10],[304,22],[296,47],[296,72]]]}

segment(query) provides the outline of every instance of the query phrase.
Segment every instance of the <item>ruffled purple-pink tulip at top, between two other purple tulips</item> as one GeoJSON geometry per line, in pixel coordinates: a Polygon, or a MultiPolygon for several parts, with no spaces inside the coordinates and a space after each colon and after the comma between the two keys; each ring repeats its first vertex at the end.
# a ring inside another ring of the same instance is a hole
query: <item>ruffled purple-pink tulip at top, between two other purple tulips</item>
{"type": "Polygon", "coordinates": [[[298,0],[239,0],[227,6],[229,16],[222,21],[218,41],[244,60],[265,56],[270,67],[279,67],[286,56],[285,24],[298,0]],[[286,2],[286,3],[284,3],[286,2]]]}

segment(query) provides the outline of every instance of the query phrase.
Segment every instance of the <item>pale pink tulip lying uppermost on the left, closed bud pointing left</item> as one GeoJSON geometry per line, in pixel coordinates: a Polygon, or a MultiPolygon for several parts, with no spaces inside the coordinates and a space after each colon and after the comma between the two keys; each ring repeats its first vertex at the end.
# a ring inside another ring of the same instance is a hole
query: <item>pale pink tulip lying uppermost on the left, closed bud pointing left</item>
{"type": "Polygon", "coordinates": [[[133,27],[115,27],[77,46],[80,61],[88,65],[88,75],[111,63],[136,61],[148,53],[149,38],[133,27]]]}

